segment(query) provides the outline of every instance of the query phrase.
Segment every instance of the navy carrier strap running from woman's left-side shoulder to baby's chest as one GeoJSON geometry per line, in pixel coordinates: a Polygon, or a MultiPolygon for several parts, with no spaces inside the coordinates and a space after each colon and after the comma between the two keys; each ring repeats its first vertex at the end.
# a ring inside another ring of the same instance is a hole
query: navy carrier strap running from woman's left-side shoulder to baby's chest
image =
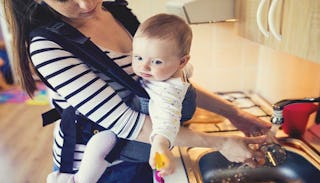
{"type": "Polygon", "coordinates": [[[119,82],[127,89],[130,89],[139,97],[148,98],[146,91],[122,70],[113,60],[108,57],[100,48],[90,41],[89,38],[83,36],[79,31],[66,23],[54,23],[50,27],[38,28],[32,34],[43,36],[61,45],[65,50],[71,52],[76,57],[84,61],[86,64],[94,67],[100,72],[108,75],[113,80],[119,82]],[[61,30],[62,29],[62,30],[61,30]],[[59,34],[57,30],[62,31],[66,36],[59,34]],[[73,38],[73,39],[70,39],[73,38]],[[103,62],[102,62],[103,61],[103,62]]]}

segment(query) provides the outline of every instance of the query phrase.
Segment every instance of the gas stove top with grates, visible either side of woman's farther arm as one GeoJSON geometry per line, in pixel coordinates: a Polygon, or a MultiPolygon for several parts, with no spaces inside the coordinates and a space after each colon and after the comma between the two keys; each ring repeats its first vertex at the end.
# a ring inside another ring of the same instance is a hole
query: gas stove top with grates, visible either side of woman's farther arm
{"type": "MultiPolygon", "coordinates": [[[[216,92],[222,98],[233,103],[240,109],[247,111],[258,118],[270,121],[272,105],[255,93],[242,91],[216,92]]],[[[186,122],[186,126],[202,132],[237,131],[232,123],[223,116],[197,108],[194,117],[186,122]]]]}

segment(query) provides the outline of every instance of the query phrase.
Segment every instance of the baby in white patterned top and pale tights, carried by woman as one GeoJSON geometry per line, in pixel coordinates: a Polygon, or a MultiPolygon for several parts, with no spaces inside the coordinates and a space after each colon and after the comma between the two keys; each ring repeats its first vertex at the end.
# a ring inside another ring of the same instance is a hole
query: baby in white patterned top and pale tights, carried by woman
{"type": "MultiPolygon", "coordinates": [[[[139,104],[140,111],[149,113],[152,120],[149,164],[155,168],[156,153],[167,159],[160,176],[172,174],[176,166],[170,149],[183,119],[182,102],[190,86],[191,40],[192,31],[186,22],[168,14],[158,14],[144,21],[133,38],[132,67],[150,96],[149,103],[141,100],[139,104]]],[[[116,136],[111,131],[94,135],[87,144],[79,171],[74,175],[60,174],[59,179],[97,182],[109,165],[105,157],[115,143],[116,136]]],[[[57,182],[55,174],[51,173],[47,181],[57,182]]]]}

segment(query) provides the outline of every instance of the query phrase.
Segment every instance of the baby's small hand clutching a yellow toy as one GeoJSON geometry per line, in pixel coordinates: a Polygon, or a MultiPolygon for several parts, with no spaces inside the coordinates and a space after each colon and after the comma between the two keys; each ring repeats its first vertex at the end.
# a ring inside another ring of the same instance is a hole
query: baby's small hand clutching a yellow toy
{"type": "Polygon", "coordinates": [[[176,169],[176,163],[174,159],[174,155],[169,150],[169,142],[166,138],[156,135],[153,138],[153,142],[151,144],[151,150],[150,150],[150,159],[149,164],[152,169],[158,168],[156,166],[156,153],[161,154],[161,161],[158,162],[161,163],[161,168],[159,169],[159,175],[161,177],[170,175],[174,173],[176,169]]]}

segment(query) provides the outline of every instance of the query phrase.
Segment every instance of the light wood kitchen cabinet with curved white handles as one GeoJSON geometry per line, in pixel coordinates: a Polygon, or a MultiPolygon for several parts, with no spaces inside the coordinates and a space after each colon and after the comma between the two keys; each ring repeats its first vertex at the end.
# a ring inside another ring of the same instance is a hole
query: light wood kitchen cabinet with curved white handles
{"type": "Polygon", "coordinates": [[[236,1],[239,35],[276,50],[320,63],[319,0],[244,0],[236,1]],[[260,3],[264,5],[257,13],[260,3]],[[274,8],[274,13],[271,13],[274,8]],[[269,34],[259,31],[261,25],[269,34]],[[274,22],[274,26],[272,26],[274,22]],[[272,34],[279,34],[279,39],[272,34]]]}

